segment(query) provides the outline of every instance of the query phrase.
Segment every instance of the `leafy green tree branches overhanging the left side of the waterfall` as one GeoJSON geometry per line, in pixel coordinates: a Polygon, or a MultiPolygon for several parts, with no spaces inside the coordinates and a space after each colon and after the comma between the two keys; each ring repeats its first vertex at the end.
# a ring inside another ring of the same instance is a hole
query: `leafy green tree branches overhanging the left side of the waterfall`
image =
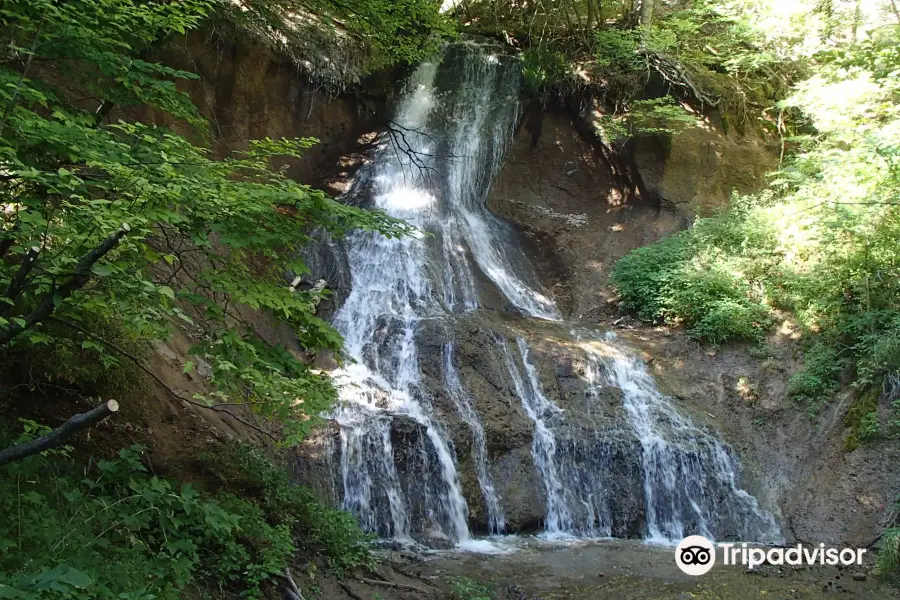
{"type": "Polygon", "coordinates": [[[285,420],[296,441],[305,415],[332,401],[330,381],[263,341],[249,315],[289,323],[310,354],[339,353],[340,336],[315,315],[327,291],[286,284],[307,270],[299,250],[313,229],[407,229],[271,167],[313,139],[254,141],[219,161],[161,127],[108,122],[113,108],[149,107],[202,135],[205,121],[175,85],[195,76],[144,57],[215,7],[11,0],[0,9],[0,344],[14,354],[80,346],[114,365],[99,323],[114,323],[132,347],[165,338],[173,321],[200,324],[206,339],[194,352],[217,392],[195,401],[248,402],[285,420]]]}

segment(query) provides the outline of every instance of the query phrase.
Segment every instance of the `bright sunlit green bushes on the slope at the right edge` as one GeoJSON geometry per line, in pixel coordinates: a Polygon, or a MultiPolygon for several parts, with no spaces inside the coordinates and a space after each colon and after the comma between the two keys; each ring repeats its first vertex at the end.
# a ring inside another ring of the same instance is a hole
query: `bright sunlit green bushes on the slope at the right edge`
{"type": "Polygon", "coordinates": [[[713,343],[793,315],[810,341],[792,396],[815,412],[849,367],[866,398],[846,422],[850,450],[897,431],[879,406],[900,404],[900,24],[822,35],[809,78],[778,105],[803,115],[787,129],[812,133],[790,139],[770,189],[629,254],[612,279],[624,308],[713,343]]]}

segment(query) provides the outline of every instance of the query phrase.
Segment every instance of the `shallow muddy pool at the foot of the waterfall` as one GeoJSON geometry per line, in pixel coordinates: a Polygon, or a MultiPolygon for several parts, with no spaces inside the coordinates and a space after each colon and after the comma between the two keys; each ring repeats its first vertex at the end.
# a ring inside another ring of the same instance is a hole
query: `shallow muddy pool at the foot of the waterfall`
{"type": "Polygon", "coordinates": [[[699,577],[682,573],[671,547],[639,541],[499,542],[498,553],[444,552],[413,558],[387,553],[405,573],[443,588],[477,582],[497,600],[766,600],[900,598],[900,590],[862,567],[773,566],[752,571],[717,565],[699,577]],[[463,579],[461,579],[463,578],[463,579]]]}

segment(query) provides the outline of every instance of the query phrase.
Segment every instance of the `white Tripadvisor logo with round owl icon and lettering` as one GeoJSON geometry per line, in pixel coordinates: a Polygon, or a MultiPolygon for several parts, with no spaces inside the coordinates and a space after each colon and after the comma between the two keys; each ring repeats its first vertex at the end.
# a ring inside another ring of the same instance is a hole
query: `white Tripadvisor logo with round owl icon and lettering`
{"type": "Polygon", "coordinates": [[[861,565],[865,548],[826,548],[825,544],[787,548],[750,547],[747,543],[713,544],[702,535],[691,535],[675,548],[675,564],[688,575],[703,575],[716,564],[716,548],[721,549],[722,564],[744,565],[755,569],[763,563],[770,565],[861,565]]]}

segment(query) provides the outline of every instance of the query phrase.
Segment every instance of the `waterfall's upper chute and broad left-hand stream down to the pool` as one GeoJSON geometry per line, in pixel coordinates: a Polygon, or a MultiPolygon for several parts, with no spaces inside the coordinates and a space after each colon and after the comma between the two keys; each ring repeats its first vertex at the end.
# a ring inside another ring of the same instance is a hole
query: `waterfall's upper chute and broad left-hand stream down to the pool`
{"type": "MultiPolygon", "coordinates": [[[[418,234],[400,240],[357,234],[345,244],[352,288],[334,325],[356,363],[335,373],[341,392],[333,418],[341,427],[344,508],[383,536],[410,540],[424,533],[460,543],[469,539],[467,506],[450,443],[422,385],[417,328],[423,319],[477,307],[469,255],[528,312],[551,315],[555,309],[515,274],[517,257],[503,243],[505,226],[484,208],[518,115],[518,70],[509,59],[467,44],[453,47],[444,64],[453,75],[453,91],[439,98],[438,65],[421,65],[400,103],[399,133],[385,141],[372,167],[374,205],[405,219],[418,234]],[[420,476],[406,486],[395,466],[398,420],[418,432],[410,435],[423,438],[419,455],[408,457],[420,476]],[[411,516],[413,499],[422,518],[411,516]],[[413,527],[413,521],[423,525],[413,527]]],[[[453,376],[445,374],[451,387],[453,376]]],[[[483,447],[481,424],[471,407],[466,410],[468,400],[454,398],[483,447]]],[[[490,497],[486,475],[480,482],[499,531],[499,503],[490,497]]]]}

